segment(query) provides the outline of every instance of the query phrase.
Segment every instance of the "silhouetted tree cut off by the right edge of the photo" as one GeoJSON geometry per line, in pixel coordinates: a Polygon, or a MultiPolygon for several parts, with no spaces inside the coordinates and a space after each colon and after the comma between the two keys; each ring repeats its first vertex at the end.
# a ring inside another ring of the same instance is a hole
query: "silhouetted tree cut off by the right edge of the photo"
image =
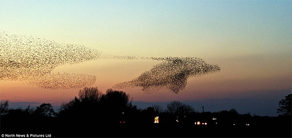
{"type": "Polygon", "coordinates": [[[277,113],[282,115],[291,115],[291,108],[292,108],[292,94],[285,96],[285,99],[279,101],[279,108],[277,109],[277,113]]]}

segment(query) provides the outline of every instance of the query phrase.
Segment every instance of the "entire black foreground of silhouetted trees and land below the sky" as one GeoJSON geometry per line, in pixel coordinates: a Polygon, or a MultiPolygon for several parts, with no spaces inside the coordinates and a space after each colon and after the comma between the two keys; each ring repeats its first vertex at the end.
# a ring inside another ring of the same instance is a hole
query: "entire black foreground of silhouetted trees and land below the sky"
{"type": "MultiPolygon", "coordinates": [[[[166,109],[160,105],[140,109],[132,104],[132,99],[126,92],[109,89],[106,93],[102,93],[97,87],[85,87],[79,90],[78,97],[63,103],[58,111],[55,111],[49,103],[43,103],[35,109],[27,107],[24,110],[9,110],[8,105],[8,101],[2,101],[0,106],[1,132],[5,133],[44,132],[54,133],[56,137],[86,137],[84,136],[86,133],[88,137],[92,137],[96,136],[97,129],[98,136],[101,137],[129,137],[132,135],[125,132],[129,130],[142,132],[145,130],[142,127],[148,127],[147,131],[173,130],[174,134],[168,134],[165,137],[176,135],[189,137],[193,135],[191,133],[193,128],[204,130],[208,128],[225,137],[226,134],[223,133],[222,128],[237,128],[239,131],[259,126],[267,127],[283,121],[286,122],[282,123],[284,126],[290,125],[288,129],[291,128],[291,94],[279,102],[278,113],[280,113],[279,117],[282,116],[281,118],[251,116],[249,113],[239,114],[236,109],[213,113],[197,112],[193,107],[179,101],[168,103],[166,109]],[[154,123],[155,117],[159,117],[159,123],[154,123]],[[197,122],[205,123],[205,125],[199,126],[195,124],[197,122]],[[28,124],[30,127],[27,127],[28,124]],[[189,132],[185,132],[189,129],[191,129],[189,132]],[[179,133],[178,130],[185,132],[185,135],[179,133]],[[69,135],[72,132],[74,132],[73,135],[69,135]],[[111,132],[118,133],[113,135],[111,132]]],[[[279,128],[281,127],[277,129],[279,128]]],[[[151,133],[145,135],[153,136],[151,133]]],[[[200,136],[203,137],[203,135],[200,136]]],[[[291,133],[285,136],[291,136],[291,133]]]]}

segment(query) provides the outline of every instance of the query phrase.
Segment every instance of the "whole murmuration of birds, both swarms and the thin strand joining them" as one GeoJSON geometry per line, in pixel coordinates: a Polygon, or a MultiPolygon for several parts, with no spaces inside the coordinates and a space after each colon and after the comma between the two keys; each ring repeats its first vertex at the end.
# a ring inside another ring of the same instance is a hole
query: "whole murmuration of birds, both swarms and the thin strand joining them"
{"type": "Polygon", "coordinates": [[[113,86],[115,89],[142,87],[148,93],[182,91],[189,77],[220,71],[219,65],[193,57],[116,56],[94,48],[59,44],[55,41],[21,36],[0,31],[0,80],[24,81],[44,89],[75,89],[91,86],[96,77],[87,74],[53,72],[57,66],[98,59],[156,60],[161,63],[131,81],[113,86]]]}

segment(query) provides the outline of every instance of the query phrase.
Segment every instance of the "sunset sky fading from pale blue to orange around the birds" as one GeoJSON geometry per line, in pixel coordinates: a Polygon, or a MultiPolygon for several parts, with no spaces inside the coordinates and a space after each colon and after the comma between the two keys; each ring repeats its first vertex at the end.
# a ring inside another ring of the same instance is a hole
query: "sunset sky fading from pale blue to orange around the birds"
{"type": "MultiPolygon", "coordinates": [[[[197,57],[220,72],[191,77],[178,94],[142,88],[122,91],[140,107],[181,101],[196,110],[237,109],[277,116],[292,93],[291,0],[2,0],[0,31],[84,45],[113,55],[197,57]]],[[[96,76],[102,92],[161,61],[100,59],[58,66],[54,72],[96,76]]],[[[79,89],[50,90],[0,80],[11,105],[59,106],[79,89]]]]}

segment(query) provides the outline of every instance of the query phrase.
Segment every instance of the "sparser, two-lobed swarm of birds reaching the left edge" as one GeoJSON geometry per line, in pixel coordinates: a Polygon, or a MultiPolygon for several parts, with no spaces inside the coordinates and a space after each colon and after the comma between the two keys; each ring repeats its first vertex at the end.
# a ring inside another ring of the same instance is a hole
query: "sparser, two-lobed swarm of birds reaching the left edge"
{"type": "Polygon", "coordinates": [[[107,55],[93,48],[0,32],[0,80],[26,81],[46,89],[90,86],[94,76],[52,71],[60,65],[100,58],[107,55]]]}

